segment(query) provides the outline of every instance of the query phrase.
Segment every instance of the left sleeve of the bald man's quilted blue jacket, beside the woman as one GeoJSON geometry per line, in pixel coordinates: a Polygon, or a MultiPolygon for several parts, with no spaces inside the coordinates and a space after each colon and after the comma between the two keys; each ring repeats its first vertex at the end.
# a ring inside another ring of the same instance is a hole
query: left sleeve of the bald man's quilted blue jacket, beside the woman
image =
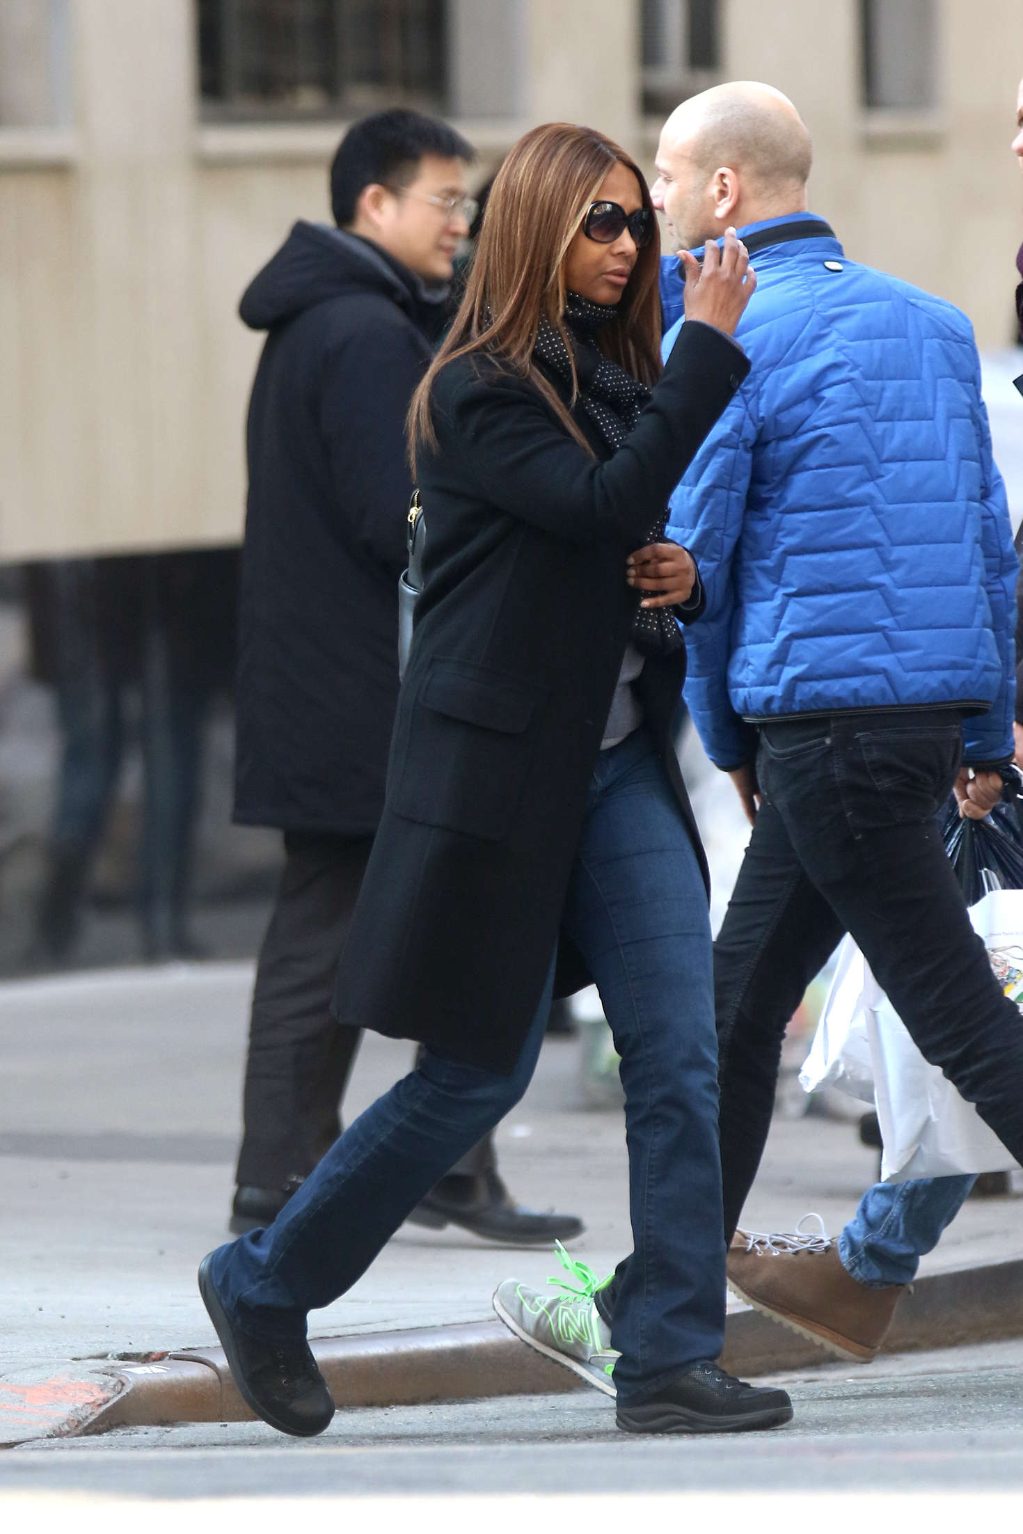
{"type": "MultiPolygon", "coordinates": [[[[664,337],[664,354],[681,324],[664,337]]],[[[752,379],[725,407],[669,502],[667,535],[683,543],[699,566],[707,606],[686,632],[689,670],[686,703],[704,750],[730,770],[750,761],[756,733],[729,700],[729,655],[735,615],[733,557],[750,485],[756,407],[752,379]]]]}

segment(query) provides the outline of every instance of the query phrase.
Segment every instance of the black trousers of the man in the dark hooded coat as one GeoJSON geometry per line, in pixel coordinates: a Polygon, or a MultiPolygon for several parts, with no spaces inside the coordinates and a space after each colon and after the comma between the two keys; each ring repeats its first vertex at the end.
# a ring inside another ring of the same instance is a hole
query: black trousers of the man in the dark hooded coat
{"type": "MultiPolygon", "coordinates": [[[[304,1178],[340,1134],[357,1028],[331,1017],[337,960],[373,838],[285,831],[285,865],[259,950],[248,1026],[238,1184],[284,1187],[304,1178]]],[[[491,1137],[452,1172],[495,1166],[491,1137]]]]}

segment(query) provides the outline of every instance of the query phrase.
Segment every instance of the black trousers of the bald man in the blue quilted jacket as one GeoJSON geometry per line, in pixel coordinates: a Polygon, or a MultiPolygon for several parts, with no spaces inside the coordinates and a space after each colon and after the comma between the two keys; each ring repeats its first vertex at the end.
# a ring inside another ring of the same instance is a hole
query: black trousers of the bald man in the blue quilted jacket
{"type": "MultiPolygon", "coordinates": [[[[937,824],[960,750],[962,721],[940,710],[761,730],[761,810],[715,942],[729,1241],[764,1154],[785,1029],[845,933],[923,1057],[1023,1155],[1020,1014],[969,925],[937,824]]],[[[598,1299],[609,1313],[613,1285],[598,1299]]]]}

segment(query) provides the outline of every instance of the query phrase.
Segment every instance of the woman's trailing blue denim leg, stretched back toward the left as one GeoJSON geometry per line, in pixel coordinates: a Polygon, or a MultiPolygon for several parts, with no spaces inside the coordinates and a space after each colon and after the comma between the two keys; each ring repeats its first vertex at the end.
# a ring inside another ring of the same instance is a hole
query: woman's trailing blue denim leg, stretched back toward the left
{"type": "Polygon", "coordinates": [[[345,1129],[267,1230],[213,1253],[213,1282],[236,1325],[302,1338],[307,1312],[351,1289],[434,1183],[523,1095],[552,988],[554,966],[512,1075],[425,1051],[345,1129]]]}

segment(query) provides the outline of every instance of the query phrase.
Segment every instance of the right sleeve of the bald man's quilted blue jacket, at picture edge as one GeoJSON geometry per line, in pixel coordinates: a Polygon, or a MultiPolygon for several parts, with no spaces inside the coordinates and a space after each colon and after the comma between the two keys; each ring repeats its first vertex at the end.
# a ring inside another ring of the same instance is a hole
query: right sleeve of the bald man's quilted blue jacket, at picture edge
{"type": "Polygon", "coordinates": [[[1018,560],[1012,546],[1012,523],[991,451],[988,411],[980,394],[980,359],[974,362],[977,443],[983,479],[982,542],[985,555],[985,588],[991,604],[991,621],[1002,660],[1002,687],[988,713],[963,724],[963,761],[992,762],[1012,755],[1012,716],[1015,712],[1015,578],[1018,560]]]}

